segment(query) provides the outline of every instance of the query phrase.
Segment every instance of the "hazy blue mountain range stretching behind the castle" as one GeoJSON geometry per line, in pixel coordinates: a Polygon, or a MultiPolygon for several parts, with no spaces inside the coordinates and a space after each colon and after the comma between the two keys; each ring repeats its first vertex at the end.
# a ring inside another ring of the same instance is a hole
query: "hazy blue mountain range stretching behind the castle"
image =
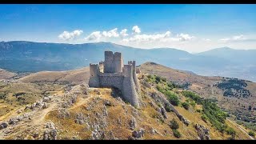
{"type": "Polygon", "coordinates": [[[0,42],[0,68],[14,72],[74,70],[89,66],[90,62],[103,60],[105,50],[122,52],[125,62],[133,59],[136,60],[137,65],[143,62],[157,62],[179,70],[190,70],[195,74],[256,81],[256,63],[253,61],[255,53],[250,50],[241,50],[241,52],[216,49],[190,54],[174,48],[138,49],[110,42],[84,44],[0,42]]]}

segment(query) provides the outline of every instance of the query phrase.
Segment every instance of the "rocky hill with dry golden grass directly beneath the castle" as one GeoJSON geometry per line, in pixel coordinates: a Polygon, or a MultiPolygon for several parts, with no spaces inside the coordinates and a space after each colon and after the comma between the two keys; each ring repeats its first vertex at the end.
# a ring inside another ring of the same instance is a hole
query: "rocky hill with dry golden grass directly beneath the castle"
{"type": "MultiPolygon", "coordinates": [[[[52,75],[56,75],[59,79],[59,75],[64,75],[66,78],[71,74],[70,71],[64,72],[66,74],[59,73],[61,74],[54,72],[52,75]]],[[[36,74],[37,77],[40,74],[44,77],[46,72],[36,74]]],[[[74,86],[53,84],[46,81],[50,77],[42,79],[42,82],[31,83],[28,82],[28,78],[34,78],[31,76],[22,78],[23,82],[17,80],[14,83],[2,83],[0,90],[5,92],[6,98],[2,99],[0,106],[10,108],[6,104],[12,103],[14,107],[10,110],[2,110],[0,123],[9,124],[0,130],[0,139],[229,139],[233,137],[233,133],[222,134],[210,120],[203,120],[201,110],[204,108],[200,104],[191,105],[188,110],[182,105],[174,106],[189,122],[189,125],[186,125],[174,111],[170,111],[165,106],[164,99],[168,97],[158,91],[155,79],[149,79],[147,74],[139,74],[138,77],[142,88],[140,109],[123,102],[118,98],[120,93],[114,89],[90,88],[84,82],[74,86]],[[30,94],[37,96],[34,99],[27,98],[30,94]],[[12,95],[17,96],[15,98],[12,95]],[[172,122],[176,124],[173,125],[172,122]],[[178,128],[172,128],[177,125],[178,128]]],[[[163,80],[160,80],[160,83],[166,86],[163,80]]],[[[177,95],[180,102],[194,102],[177,88],[171,88],[170,92],[177,95]]],[[[250,139],[245,128],[242,129],[246,131],[242,131],[238,124],[228,119],[225,123],[228,129],[234,130],[235,139],[250,139]]]]}

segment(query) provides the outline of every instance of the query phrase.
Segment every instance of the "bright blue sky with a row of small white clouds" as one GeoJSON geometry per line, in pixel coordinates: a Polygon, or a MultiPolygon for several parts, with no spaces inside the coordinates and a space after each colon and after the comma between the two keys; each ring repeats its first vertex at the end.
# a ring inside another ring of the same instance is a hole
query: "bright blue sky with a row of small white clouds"
{"type": "Polygon", "coordinates": [[[256,5],[0,4],[0,41],[256,49],[256,5]]]}

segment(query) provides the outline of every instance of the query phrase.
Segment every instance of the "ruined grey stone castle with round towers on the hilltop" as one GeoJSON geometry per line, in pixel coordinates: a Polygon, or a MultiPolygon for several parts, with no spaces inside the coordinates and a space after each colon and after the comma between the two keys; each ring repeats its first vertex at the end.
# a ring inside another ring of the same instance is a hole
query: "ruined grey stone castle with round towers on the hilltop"
{"type": "Polygon", "coordinates": [[[139,107],[139,83],[135,61],[123,64],[122,54],[105,51],[105,61],[90,63],[90,87],[115,87],[122,92],[122,99],[132,106],[139,107]]]}

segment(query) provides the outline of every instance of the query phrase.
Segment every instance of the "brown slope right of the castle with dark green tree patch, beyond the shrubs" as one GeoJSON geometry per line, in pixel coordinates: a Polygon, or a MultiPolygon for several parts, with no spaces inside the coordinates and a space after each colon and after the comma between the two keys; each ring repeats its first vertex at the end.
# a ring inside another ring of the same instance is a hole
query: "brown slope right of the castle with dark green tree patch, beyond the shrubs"
{"type": "Polygon", "coordinates": [[[142,73],[156,74],[167,78],[171,82],[185,86],[203,98],[211,98],[218,102],[218,106],[227,110],[234,119],[255,122],[256,83],[236,78],[205,77],[197,74],[174,70],[154,62],[146,62],[139,66],[142,73]],[[248,110],[249,107],[252,110],[248,110]]]}

